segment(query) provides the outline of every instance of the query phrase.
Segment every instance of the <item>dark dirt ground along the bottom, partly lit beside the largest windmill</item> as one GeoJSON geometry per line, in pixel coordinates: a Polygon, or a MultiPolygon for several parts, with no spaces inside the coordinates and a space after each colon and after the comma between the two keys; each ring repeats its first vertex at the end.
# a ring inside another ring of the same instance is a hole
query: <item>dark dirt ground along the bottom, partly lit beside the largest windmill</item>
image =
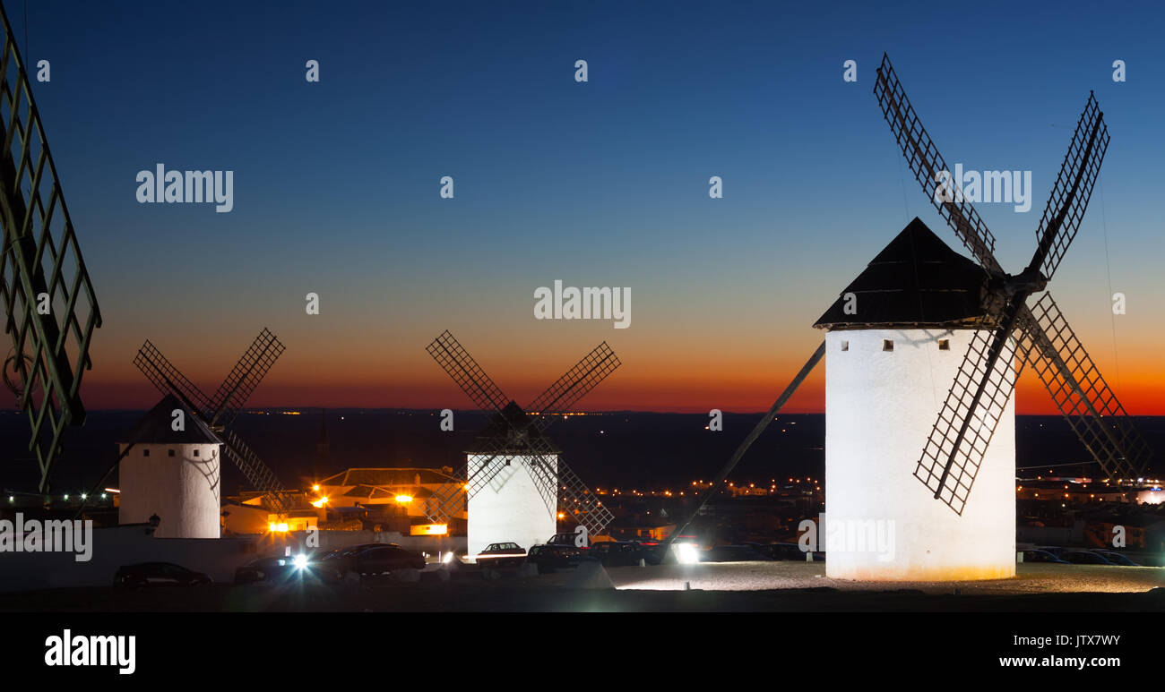
{"type": "Polygon", "coordinates": [[[615,588],[573,588],[572,572],[447,582],[216,584],[0,594],[0,612],[1162,612],[1165,569],[1021,564],[1014,579],[875,584],[825,577],[822,563],[612,568],[615,588]],[[686,586],[686,588],[685,588],[686,586]]]}

